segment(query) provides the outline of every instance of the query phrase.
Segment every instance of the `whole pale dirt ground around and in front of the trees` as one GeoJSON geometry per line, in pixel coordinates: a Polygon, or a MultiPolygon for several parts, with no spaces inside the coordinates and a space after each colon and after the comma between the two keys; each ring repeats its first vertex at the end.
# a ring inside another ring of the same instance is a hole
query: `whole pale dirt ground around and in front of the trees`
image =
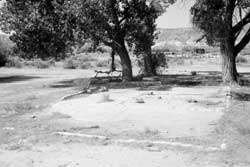
{"type": "Polygon", "coordinates": [[[218,63],[195,61],[67,100],[94,70],[0,69],[0,166],[250,166],[249,85],[221,86],[218,63]]]}

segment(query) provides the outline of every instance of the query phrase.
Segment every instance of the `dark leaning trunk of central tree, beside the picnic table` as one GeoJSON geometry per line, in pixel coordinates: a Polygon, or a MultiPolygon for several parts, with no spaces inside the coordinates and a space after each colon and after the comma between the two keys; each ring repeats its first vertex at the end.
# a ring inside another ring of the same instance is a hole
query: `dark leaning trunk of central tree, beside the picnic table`
{"type": "Polygon", "coordinates": [[[116,49],[116,53],[120,56],[121,65],[122,65],[122,80],[123,81],[132,81],[133,79],[133,72],[132,72],[132,65],[131,60],[127,51],[127,48],[123,43],[120,43],[119,47],[116,49]]]}

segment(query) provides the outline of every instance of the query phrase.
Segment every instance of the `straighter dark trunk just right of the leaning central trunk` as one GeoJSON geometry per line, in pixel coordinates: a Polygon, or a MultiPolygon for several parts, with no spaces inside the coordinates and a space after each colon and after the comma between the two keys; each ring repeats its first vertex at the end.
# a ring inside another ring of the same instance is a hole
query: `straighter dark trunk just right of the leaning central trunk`
{"type": "Polygon", "coordinates": [[[144,55],[144,75],[145,76],[155,76],[156,75],[156,68],[152,59],[152,51],[149,47],[144,55]]]}

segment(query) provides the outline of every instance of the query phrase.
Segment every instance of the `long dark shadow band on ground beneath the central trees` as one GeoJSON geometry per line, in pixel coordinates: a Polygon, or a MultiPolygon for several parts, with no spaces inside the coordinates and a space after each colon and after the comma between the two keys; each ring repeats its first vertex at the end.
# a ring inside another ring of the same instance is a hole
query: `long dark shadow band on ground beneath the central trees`
{"type": "MultiPolygon", "coordinates": [[[[250,73],[241,74],[241,84],[250,86],[250,73]]],[[[132,82],[122,82],[120,77],[77,78],[53,83],[51,88],[77,87],[79,89],[101,87],[108,89],[137,89],[137,90],[169,90],[172,87],[195,87],[195,86],[220,86],[222,84],[221,72],[197,71],[190,74],[167,74],[157,77],[135,77],[132,82]]]]}

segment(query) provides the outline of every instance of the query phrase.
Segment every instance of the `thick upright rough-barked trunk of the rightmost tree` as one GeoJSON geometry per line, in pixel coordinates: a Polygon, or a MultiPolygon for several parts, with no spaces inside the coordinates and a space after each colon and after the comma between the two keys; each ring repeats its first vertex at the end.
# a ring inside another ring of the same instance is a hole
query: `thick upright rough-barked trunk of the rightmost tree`
{"type": "Polygon", "coordinates": [[[234,44],[231,41],[221,43],[222,80],[225,84],[238,84],[236,57],[234,44]]]}

